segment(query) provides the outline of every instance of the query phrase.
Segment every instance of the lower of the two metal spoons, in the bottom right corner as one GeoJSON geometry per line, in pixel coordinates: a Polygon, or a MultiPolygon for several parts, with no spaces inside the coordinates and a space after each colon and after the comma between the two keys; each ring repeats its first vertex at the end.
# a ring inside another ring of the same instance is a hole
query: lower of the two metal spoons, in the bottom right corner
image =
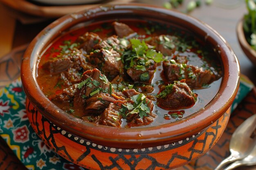
{"type": "Polygon", "coordinates": [[[250,154],[247,155],[247,157],[245,157],[244,159],[235,161],[234,163],[232,163],[230,166],[228,166],[224,170],[232,170],[234,168],[237,168],[237,167],[243,166],[243,165],[245,165],[245,166],[256,165],[256,145],[254,146],[252,152],[250,152],[250,154]]]}

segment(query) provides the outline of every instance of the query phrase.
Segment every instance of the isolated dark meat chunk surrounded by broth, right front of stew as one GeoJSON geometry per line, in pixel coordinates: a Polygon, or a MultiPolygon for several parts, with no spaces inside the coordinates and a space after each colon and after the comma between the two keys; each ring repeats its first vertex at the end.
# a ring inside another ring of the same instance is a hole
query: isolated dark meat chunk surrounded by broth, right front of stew
{"type": "Polygon", "coordinates": [[[157,106],[165,110],[178,110],[192,107],[196,100],[196,95],[183,79],[162,87],[161,92],[157,95],[157,106]]]}

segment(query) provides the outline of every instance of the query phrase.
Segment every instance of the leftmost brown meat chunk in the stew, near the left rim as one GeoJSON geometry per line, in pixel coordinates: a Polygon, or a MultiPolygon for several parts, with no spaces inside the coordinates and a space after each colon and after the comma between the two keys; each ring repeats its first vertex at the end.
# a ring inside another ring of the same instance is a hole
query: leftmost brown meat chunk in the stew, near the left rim
{"type": "Polygon", "coordinates": [[[50,60],[43,64],[43,69],[49,71],[49,73],[61,73],[67,71],[73,65],[73,62],[69,58],[60,58],[56,60],[50,60]]]}

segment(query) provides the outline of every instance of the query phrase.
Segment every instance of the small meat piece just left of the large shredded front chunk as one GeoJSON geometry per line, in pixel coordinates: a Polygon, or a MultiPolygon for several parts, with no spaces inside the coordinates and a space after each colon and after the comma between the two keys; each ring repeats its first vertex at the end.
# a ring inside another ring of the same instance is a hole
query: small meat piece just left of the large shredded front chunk
{"type": "Polygon", "coordinates": [[[58,94],[50,100],[56,100],[59,102],[64,102],[64,101],[70,101],[74,97],[74,93],[76,91],[76,85],[72,85],[69,88],[65,88],[61,94],[58,94]]]}

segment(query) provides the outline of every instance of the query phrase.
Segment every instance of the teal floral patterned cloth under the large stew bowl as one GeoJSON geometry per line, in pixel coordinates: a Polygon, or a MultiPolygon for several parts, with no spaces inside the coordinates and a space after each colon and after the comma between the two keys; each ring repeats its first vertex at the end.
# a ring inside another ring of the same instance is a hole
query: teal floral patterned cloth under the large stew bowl
{"type": "MultiPolygon", "coordinates": [[[[232,110],[251,91],[252,82],[241,77],[232,110]]],[[[20,79],[0,89],[0,135],[29,170],[85,170],[53,152],[31,128],[26,110],[26,96],[20,79]]]]}

